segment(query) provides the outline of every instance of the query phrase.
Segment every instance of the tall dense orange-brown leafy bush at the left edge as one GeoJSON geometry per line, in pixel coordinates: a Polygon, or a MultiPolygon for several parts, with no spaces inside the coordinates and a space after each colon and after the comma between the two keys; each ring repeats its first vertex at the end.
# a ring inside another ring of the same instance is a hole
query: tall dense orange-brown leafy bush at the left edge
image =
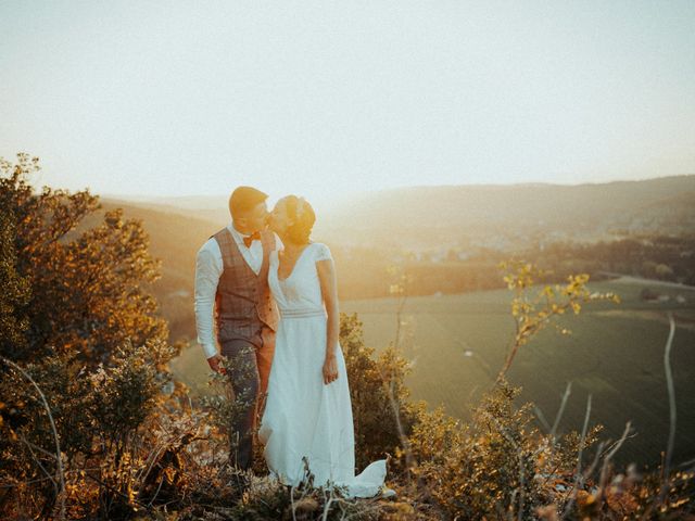
{"type": "Polygon", "coordinates": [[[78,232],[97,198],[36,193],[38,169],[0,160],[0,512],[125,516],[176,355],[147,291],[159,263],[121,212],[78,232]]]}

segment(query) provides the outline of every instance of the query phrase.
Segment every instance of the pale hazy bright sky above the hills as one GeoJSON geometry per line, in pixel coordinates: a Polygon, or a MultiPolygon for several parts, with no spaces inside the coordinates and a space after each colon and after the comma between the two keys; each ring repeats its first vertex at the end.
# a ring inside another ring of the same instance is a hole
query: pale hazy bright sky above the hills
{"type": "Polygon", "coordinates": [[[695,1],[0,1],[0,155],[101,194],[695,173],[695,1]]]}

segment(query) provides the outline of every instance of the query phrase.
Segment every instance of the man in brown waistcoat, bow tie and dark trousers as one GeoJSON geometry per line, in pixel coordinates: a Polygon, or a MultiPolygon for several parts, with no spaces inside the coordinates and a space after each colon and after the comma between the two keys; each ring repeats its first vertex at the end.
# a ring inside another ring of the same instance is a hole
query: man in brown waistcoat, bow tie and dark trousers
{"type": "Polygon", "coordinates": [[[223,372],[220,355],[229,359],[228,377],[241,406],[230,425],[229,460],[242,469],[252,463],[253,429],[268,385],[278,322],[268,264],[270,252],[282,243],[266,230],[266,199],[255,188],[238,187],[229,198],[231,224],[212,236],[195,259],[198,343],[213,371],[223,372]]]}

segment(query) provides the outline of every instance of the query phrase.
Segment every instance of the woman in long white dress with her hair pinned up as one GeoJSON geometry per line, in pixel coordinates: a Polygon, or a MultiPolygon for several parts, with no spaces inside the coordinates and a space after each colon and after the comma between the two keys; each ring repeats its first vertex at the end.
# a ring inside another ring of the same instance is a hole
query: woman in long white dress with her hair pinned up
{"type": "Polygon", "coordinates": [[[271,474],[286,485],[305,479],[339,485],[348,497],[386,488],[386,459],[355,475],[355,441],[345,360],[338,341],[336,272],[326,244],[311,242],[316,220],[302,198],[276,204],[270,228],[285,249],[270,254],[268,285],[280,310],[267,402],[258,437],[271,474]]]}

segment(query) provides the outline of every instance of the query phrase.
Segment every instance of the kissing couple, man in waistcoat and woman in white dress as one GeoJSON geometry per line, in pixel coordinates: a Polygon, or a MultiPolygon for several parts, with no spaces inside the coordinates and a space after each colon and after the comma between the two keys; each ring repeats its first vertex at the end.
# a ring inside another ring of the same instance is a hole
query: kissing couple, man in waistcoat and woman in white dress
{"type": "Polygon", "coordinates": [[[237,188],[231,223],[203,244],[195,264],[198,342],[214,371],[223,370],[220,355],[228,359],[241,398],[230,462],[251,467],[257,427],[268,469],[281,483],[299,485],[306,459],[314,486],[340,485],[348,497],[392,495],[386,459],[355,475],[336,271],[328,246],[309,240],[314,209],[288,195],[268,213],[266,199],[237,188]]]}

